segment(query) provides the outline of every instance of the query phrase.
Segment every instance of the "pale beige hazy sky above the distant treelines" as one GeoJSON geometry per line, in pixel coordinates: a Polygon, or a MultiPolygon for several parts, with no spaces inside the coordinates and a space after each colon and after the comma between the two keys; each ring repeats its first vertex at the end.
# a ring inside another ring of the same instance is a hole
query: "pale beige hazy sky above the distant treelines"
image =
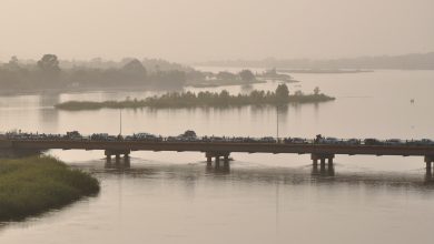
{"type": "Polygon", "coordinates": [[[434,0],[0,0],[0,60],[434,51],[434,0]]]}

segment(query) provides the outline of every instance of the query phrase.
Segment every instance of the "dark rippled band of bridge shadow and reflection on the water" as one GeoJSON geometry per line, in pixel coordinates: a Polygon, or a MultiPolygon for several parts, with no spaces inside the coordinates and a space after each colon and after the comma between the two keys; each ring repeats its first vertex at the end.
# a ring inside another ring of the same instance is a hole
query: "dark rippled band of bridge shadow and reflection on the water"
{"type": "MultiPolygon", "coordinates": [[[[75,164],[83,167],[81,164],[75,164]]],[[[339,172],[335,166],[315,167],[304,165],[299,167],[267,167],[248,163],[231,162],[221,165],[195,162],[188,164],[144,162],[140,159],[121,159],[120,161],[103,162],[97,166],[89,163],[87,170],[96,174],[125,174],[131,177],[152,177],[179,181],[213,180],[216,182],[251,182],[258,184],[285,185],[364,185],[367,187],[407,189],[432,191],[434,193],[434,175],[421,172],[339,172]],[[103,165],[103,166],[102,166],[103,165]],[[101,167],[102,166],[102,167],[101,167]]]]}

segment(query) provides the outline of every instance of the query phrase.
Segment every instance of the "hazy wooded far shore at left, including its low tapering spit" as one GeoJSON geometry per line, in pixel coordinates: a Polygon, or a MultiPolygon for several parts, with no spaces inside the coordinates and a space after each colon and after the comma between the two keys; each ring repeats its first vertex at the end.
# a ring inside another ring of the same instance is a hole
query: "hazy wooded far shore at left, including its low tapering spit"
{"type": "Polygon", "coordinates": [[[38,61],[12,57],[9,62],[0,64],[0,85],[6,91],[127,87],[178,90],[187,84],[254,80],[256,77],[249,70],[239,73],[201,72],[159,59],[139,61],[126,58],[116,62],[97,58],[68,61],[59,60],[56,54],[45,54],[38,61]]]}

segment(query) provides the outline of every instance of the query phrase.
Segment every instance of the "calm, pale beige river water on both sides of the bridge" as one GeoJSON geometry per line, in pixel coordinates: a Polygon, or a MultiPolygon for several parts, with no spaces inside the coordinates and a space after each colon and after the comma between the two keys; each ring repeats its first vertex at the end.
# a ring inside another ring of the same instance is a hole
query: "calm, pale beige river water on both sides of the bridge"
{"type": "MultiPolygon", "coordinates": [[[[200,68],[217,71],[218,68],[200,68]]],[[[290,92],[315,87],[320,104],[237,109],[124,110],[122,134],[434,139],[434,71],[294,74],[290,92]],[[411,100],[414,99],[414,103],[411,100]]],[[[277,82],[230,93],[275,90],[277,82]]],[[[0,96],[0,131],[119,133],[118,110],[57,111],[68,100],[124,100],[158,92],[0,96]]],[[[0,223],[0,243],[433,243],[434,184],[423,157],[346,156],[335,174],[312,173],[309,155],[233,153],[207,169],[201,153],[134,152],[129,165],[102,151],[49,151],[101,182],[98,196],[0,223]]]]}

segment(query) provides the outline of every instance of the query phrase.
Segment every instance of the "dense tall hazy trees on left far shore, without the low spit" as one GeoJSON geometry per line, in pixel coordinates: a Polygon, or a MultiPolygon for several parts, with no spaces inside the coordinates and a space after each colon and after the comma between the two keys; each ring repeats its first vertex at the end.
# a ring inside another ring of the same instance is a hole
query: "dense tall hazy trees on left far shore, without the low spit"
{"type": "Polygon", "coordinates": [[[62,69],[56,54],[45,54],[36,63],[21,63],[17,57],[0,65],[0,85],[7,90],[39,90],[62,88],[107,88],[142,85],[164,89],[183,88],[187,74],[184,70],[155,70],[148,72],[137,59],[121,67],[70,67],[62,69]]]}

